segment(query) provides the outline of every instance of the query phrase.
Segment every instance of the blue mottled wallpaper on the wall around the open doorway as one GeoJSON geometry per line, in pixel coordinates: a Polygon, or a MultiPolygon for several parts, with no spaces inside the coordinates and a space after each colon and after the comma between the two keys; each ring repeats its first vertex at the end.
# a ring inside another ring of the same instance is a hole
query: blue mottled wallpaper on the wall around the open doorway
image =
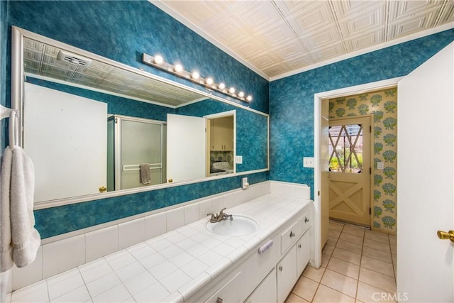
{"type": "Polygon", "coordinates": [[[453,40],[443,31],[270,82],[270,180],[314,188],[314,169],[302,165],[314,156],[314,94],[408,75],[453,40]]]}

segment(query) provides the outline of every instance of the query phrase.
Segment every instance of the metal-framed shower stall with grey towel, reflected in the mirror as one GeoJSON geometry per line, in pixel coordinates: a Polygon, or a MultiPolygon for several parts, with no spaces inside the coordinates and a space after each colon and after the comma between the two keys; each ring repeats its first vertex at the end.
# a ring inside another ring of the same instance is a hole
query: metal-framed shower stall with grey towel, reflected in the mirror
{"type": "Polygon", "coordinates": [[[166,124],[113,115],[107,119],[107,190],[165,182],[166,124]]]}

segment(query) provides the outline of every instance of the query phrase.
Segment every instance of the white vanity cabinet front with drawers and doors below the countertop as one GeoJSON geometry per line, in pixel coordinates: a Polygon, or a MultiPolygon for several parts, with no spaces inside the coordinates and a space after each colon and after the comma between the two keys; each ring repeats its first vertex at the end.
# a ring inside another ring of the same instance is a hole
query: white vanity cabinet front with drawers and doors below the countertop
{"type": "Polygon", "coordinates": [[[295,214],[187,302],[284,302],[309,263],[311,211],[295,214]]]}

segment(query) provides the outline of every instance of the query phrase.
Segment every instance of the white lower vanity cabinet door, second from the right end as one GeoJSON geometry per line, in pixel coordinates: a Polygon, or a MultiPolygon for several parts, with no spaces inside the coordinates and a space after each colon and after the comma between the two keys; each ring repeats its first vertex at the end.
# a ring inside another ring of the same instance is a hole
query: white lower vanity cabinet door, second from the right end
{"type": "Polygon", "coordinates": [[[277,302],[284,302],[297,282],[297,247],[292,246],[287,255],[277,263],[277,302]]]}

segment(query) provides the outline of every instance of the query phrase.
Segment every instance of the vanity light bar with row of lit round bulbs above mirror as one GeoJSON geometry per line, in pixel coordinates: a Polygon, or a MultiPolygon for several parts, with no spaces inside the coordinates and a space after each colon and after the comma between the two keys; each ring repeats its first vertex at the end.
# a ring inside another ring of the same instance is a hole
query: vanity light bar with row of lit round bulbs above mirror
{"type": "Polygon", "coordinates": [[[201,77],[199,72],[196,71],[188,72],[187,70],[184,70],[181,64],[171,65],[170,63],[165,62],[160,55],[153,57],[143,53],[142,62],[145,63],[146,65],[151,65],[160,70],[164,70],[165,72],[169,72],[172,75],[181,77],[183,79],[187,79],[196,84],[200,84],[206,89],[220,92],[221,94],[225,94],[228,97],[233,97],[235,99],[245,102],[250,102],[253,100],[253,97],[251,95],[245,96],[244,92],[237,93],[235,87],[226,87],[226,84],[215,83],[212,77],[204,78],[201,77]]]}

